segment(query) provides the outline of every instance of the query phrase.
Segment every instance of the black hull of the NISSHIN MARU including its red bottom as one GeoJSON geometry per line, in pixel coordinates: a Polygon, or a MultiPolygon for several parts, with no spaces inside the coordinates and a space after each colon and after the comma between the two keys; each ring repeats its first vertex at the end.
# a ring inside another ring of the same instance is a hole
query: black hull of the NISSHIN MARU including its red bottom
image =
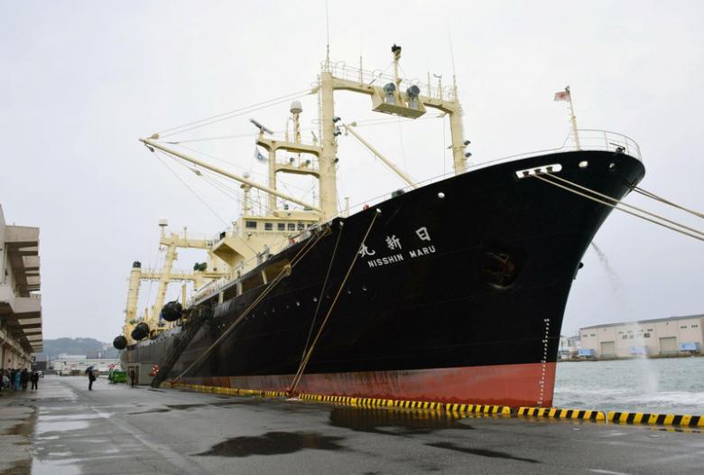
{"type": "MultiPolygon", "coordinates": [[[[291,275],[181,382],[286,390],[341,289],[299,391],[551,405],[570,286],[611,210],[516,174],[554,164],[561,166],[556,176],[616,199],[644,176],[643,164],[627,154],[542,155],[428,184],[335,219],[325,236],[288,247],[243,276],[239,291],[233,283],[200,302],[213,308],[213,317],[169,377],[189,368],[268,288],[247,290],[254,277],[264,270],[271,280],[274,269],[309,246],[291,275]]],[[[160,365],[184,334],[180,327],[165,331],[128,347],[122,359],[160,365]]]]}

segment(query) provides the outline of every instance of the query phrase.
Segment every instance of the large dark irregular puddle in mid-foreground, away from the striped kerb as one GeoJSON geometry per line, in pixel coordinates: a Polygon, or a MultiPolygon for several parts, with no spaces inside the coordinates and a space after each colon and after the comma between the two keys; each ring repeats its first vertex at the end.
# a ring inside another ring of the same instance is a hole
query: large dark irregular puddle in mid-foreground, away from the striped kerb
{"type": "Polygon", "coordinates": [[[320,433],[269,432],[258,436],[233,437],[196,455],[248,457],[250,455],[280,455],[299,452],[303,449],[339,451],[345,450],[345,447],[338,444],[342,440],[344,440],[343,437],[332,437],[320,433]]]}

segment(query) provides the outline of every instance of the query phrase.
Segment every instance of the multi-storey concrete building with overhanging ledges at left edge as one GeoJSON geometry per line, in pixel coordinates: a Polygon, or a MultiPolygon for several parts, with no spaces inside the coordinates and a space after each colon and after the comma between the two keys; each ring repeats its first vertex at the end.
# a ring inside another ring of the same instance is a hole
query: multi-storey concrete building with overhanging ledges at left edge
{"type": "Polygon", "coordinates": [[[9,226],[0,206],[0,368],[30,368],[42,351],[39,228],[9,226]]]}

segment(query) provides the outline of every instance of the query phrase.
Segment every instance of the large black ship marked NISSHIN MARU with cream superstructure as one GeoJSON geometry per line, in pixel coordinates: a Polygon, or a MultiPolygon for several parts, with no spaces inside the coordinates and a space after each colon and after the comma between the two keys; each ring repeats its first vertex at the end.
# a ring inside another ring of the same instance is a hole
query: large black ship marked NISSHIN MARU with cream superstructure
{"type": "Polygon", "coordinates": [[[227,275],[213,276],[190,301],[156,308],[151,321],[128,312],[115,341],[126,368],[153,365],[155,386],[552,405],[570,287],[612,210],[604,197],[621,200],[644,177],[638,145],[573,121],[570,144],[469,166],[456,82],[435,88],[402,79],[401,47],[392,53],[388,78],[321,63],[310,91],[320,101],[320,143],[301,140],[297,101],[292,135],[287,129],[283,139],[253,120],[256,144],[268,153],[266,185],[158,134],[140,139],[152,152],[240,183],[245,204],[236,228],[208,244],[227,275]],[[412,182],[336,116],[338,90],[366,95],[384,114],[448,115],[453,172],[412,182]],[[343,133],[408,186],[338,210],[343,133]],[[277,190],[277,174],[287,172],[318,179],[318,202],[277,190]],[[247,205],[252,189],[267,193],[263,216],[247,205]]]}

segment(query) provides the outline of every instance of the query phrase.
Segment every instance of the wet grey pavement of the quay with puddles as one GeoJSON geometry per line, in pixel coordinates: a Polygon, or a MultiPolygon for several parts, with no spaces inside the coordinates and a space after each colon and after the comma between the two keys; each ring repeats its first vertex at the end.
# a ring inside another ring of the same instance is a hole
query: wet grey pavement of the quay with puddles
{"type": "Polygon", "coordinates": [[[0,396],[0,473],[701,473],[704,433],[132,389],[0,396]]]}

